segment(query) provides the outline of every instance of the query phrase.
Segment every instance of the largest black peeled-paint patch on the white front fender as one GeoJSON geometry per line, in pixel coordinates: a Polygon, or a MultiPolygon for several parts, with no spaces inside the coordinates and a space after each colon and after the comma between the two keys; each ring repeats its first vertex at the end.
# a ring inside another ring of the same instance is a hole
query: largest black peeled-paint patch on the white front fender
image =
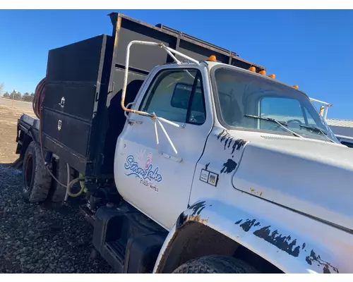
{"type": "Polygon", "coordinates": [[[270,226],[265,226],[261,229],[254,231],[253,235],[256,235],[258,238],[263,238],[263,240],[267,241],[272,245],[275,245],[280,250],[287,252],[287,254],[292,255],[293,257],[299,256],[300,246],[295,247],[295,245],[297,245],[297,239],[292,240],[289,235],[278,235],[277,230],[273,231],[271,235],[270,232],[270,226]],[[292,240],[292,242],[289,242],[290,240],[292,240]]]}

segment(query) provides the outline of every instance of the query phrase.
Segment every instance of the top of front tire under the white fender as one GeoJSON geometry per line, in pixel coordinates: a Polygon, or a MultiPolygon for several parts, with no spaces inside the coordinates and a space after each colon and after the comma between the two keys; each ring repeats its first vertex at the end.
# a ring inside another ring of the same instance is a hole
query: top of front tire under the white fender
{"type": "Polygon", "coordinates": [[[174,274],[258,274],[259,272],[234,257],[206,256],[181,264],[174,274]]]}

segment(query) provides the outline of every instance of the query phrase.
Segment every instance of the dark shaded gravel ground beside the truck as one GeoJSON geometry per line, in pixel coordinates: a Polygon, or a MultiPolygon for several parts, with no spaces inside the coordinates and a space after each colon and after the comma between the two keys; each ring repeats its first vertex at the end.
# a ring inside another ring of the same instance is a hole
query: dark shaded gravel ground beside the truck
{"type": "Polygon", "coordinates": [[[112,273],[92,255],[92,226],[78,207],[23,202],[21,177],[0,164],[0,273],[112,273]]]}

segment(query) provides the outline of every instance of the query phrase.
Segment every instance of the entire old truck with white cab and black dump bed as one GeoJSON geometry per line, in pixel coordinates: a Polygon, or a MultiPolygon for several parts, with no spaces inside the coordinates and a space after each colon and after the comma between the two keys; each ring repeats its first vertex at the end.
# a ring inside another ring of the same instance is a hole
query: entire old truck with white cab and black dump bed
{"type": "Polygon", "coordinates": [[[49,51],[38,119],[18,120],[24,199],[84,196],[118,273],[352,273],[353,151],[327,109],[201,39],[111,20],[49,51]]]}

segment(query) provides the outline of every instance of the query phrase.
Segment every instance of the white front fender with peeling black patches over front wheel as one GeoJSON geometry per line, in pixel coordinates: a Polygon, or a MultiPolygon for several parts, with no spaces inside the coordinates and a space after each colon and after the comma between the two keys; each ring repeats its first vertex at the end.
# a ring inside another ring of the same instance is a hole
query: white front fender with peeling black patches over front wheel
{"type": "Polygon", "coordinates": [[[161,259],[177,237],[179,226],[188,221],[197,221],[213,228],[285,273],[349,272],[330,248],[316,238],[310,238],[289,225],[263,218],[261,214],[249,214],[226,202],[205,199],[191,205],[181,214],[160,250],[154,273],[160,272],[161,259]]]}

